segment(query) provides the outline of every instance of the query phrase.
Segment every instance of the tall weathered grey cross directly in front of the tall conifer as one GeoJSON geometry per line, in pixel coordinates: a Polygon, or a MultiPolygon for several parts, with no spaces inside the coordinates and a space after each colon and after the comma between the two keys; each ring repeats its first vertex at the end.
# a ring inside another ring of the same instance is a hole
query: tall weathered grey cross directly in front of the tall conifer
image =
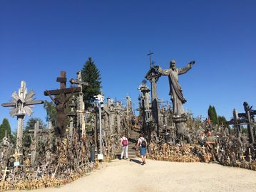
{"type": "MultiPolygon", "coordinates": [[[[77,119],[78,119],[78,130],[82,132],[82,135],[86,134],[86,122],[84,119],[85,114],[85,108],[84,108],[84,102],[83,102],[83,86],[88,86],[88,82],[83,82],[82,80],[82,74],[81,70],[79,70],[77,73],[77,80],[71,79],[71,84],[76,84],[78,87],[81,88],[81,92],[78,93],[77,97],[77,119]]],[[[80,135],[80,133],[79,133],[80,135]]]]}

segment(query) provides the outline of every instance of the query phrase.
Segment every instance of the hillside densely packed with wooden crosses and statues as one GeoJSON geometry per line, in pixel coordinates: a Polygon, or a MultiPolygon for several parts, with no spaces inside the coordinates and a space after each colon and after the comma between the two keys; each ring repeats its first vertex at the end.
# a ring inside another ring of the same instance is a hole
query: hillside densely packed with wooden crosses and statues
{"type": "Polygon", "coordinates": [[[193,117],[183,110],[186,100],[178,76],[194,64],[191,61],[184,68],[176,68],[175,60],[171,60],[168,69],[150,65],[145,73],[148,82],[138,82],[137,90],[134,89],[140,94],[138,109],[134,109],[129,95],[118,95],[125,97],[123,104],[105,98],[103,92],[95,95],[94,103],[85,109],[83,89],[88,82],[83,82],[78,71],[76,78],[69,80],[71,87],[67,87],[66,72],[61,71],[56,90],[46,87],[44,92],[36,93],[51,99],[55,121],[50,120],[46,127],[35,122],[34,129],[29,130],[24,130],[24,119],[33,113],[34,105],[43,101],[35,100],[35,92],[28,91],[22,81],[11,102],[2,104],[9,107],[11,117],[16,117],[17,134],[11,138],[6,133],[0,143],[0,191],[62,186],[90,174],[101,162],[120,156],[122,134],[134,144],[129,158],[139,155],[135,144],[142,134],[148,142],[149,159],[214,162],[256,170],[256,110],[247,102],[241,103],[243,112],[234,110],[232,119],[222,122],[211,115],[208,119],[193,117]],[[170,91],[170,102],[159,100],[157,94],[158,79],[165,75],[169,78],[170,90],[166,92],[170,91]]]}

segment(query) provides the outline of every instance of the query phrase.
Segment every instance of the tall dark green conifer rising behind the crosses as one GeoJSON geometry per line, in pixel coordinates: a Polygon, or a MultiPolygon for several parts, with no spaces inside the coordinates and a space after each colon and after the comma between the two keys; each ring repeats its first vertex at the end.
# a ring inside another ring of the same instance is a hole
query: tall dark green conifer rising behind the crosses
{"type": "Polygon", "coordinates": [[[88,58],[83,65],[81,75],[82,80],[88,82],[88,86],[83,86],[83,101],[85,102],[85,108],[88,109],[94,101],[93,96],[101,93],[101,74],[94,61],[88,58]]]}

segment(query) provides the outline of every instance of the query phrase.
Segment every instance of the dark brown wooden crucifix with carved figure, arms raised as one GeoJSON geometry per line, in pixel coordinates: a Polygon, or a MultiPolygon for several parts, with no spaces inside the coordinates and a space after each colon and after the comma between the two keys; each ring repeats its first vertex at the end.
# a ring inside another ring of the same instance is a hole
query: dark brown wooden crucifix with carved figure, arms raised
{"type": "Polygon", "coordinates": [[[55,132],[59,137],[65,137],[66,134],[66,102],[70,99],[73,93],[81,92],[81,87],[66,88],[66,71],[61,71],[61,77],[57,78],[60,82],[59,90],[46,90],[44,95],[49,96],[56,104],[56,127],[55,132]],[[70,94],[68,97],[67,94],[70,94]],[[53,97],[53,95],[56,95],[53,97]]]}

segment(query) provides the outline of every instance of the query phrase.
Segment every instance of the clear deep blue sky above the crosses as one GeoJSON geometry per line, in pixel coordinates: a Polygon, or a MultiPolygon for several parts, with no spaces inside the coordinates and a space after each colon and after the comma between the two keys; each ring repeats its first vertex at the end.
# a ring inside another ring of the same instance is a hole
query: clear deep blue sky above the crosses
{"type": "MultiPolygon", "coordinates": [[[[256,1],[0,1],[0,102],[9,102],[21,80],[36,99],[56,89],[66,70],[76,78],[88,57],[101,71],[106,97],[123,100],[128,93],[138,106],[140,85],[149,69],[146,55],[168,68],[195,60],[180,75],[186,110],[207,117],[209,105],[227,119],[256,108],[256,1]]],[[[149,85],[149,84],[148,84],[149,85]]],[[[168,78],[158,81],[158,97],[170,100],[168,78]]],[[[124,102],[124,100],[123,100],[124,102]]],[[[42,106],[32,117],[45,120],[42,106]]],[[[11,129],[16,118],[0,107],[0,122],[11,129]]],[[[28,119],[28,117],[26,117],[28,119]]]]}

